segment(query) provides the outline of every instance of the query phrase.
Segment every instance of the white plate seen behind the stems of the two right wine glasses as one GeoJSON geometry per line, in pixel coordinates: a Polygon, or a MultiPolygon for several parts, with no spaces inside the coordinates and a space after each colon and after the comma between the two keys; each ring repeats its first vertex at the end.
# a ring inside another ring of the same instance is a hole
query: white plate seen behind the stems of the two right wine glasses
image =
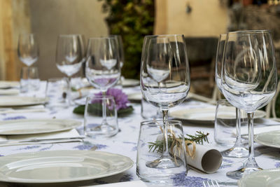
{"type": "MultiPolygon", "coordinates": [[[[188,120],[191,123],[214,123],[216,107],[202,109],[181,109],[170,111],[170,116],[181,120],[188,120]]],[[[265,111],[255,111],[254,118],[265,117],[265,111]]],[[[235,119],[235,107],[228,107],[223,111],[225,119],[235,119]]]]}

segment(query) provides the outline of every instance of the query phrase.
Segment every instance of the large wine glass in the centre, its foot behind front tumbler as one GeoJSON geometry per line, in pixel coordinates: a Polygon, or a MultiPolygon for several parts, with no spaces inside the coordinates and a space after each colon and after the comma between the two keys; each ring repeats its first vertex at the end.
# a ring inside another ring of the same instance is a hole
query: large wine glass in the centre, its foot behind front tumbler
{"type": "Polygon", "coordinates": [[[141,56],[140,86],[144,98],[162,111],[164,151],[148,167],[179,167],[168,152],[168,110],[186,99],[190,69],[183,35],[145,36],[141,56]]]}

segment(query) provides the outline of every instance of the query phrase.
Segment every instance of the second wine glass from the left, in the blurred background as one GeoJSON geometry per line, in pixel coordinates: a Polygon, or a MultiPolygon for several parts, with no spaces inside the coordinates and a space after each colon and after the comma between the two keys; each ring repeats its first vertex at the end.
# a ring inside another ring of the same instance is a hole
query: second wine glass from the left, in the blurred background
{"type": "Polygon", "coordinates": [[[67,97],[71,104],[71,76],[76,74],[84,62],[83,36],[80,34],[62,34],[57,39],[55,55],[57,69],[68,78],[67,97]]]}

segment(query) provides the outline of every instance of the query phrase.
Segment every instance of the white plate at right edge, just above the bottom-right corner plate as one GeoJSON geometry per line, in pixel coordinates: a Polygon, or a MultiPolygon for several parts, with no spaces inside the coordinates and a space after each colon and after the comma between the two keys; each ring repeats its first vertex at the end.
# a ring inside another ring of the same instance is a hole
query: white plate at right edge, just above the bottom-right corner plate
{"type": "Polygon", "coordinates": [[[259,144],[280,148],[280,130],[262,132],[255,135],[255,142],[259,144]]]}

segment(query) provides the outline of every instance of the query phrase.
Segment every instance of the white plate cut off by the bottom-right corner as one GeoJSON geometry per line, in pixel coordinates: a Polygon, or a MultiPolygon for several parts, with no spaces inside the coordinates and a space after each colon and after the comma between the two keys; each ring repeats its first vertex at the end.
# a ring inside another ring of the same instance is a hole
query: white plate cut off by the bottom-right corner
{"type": "Polygon", "coordinates": [[[279,187],[280,169],[264,169],[251,174],[246,174],[238,181],[239,187],[279,187]]]}

